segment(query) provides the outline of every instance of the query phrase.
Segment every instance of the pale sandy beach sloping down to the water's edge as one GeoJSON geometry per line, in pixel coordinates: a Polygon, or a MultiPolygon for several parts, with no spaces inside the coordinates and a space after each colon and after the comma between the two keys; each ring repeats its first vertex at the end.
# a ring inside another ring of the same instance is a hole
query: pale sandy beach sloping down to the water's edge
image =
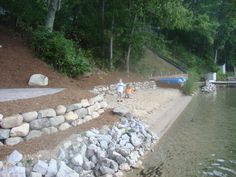
{"type": "Polygon", "coordinates": [[[110,108],[121,105],[129,108],[135,117],[161,137],[186,108],[191,96],[183,95],[178,89],[157,88],[137,91],[123,102],[117,102],[111,95],[107,95],[106,100],[110,108]]]}

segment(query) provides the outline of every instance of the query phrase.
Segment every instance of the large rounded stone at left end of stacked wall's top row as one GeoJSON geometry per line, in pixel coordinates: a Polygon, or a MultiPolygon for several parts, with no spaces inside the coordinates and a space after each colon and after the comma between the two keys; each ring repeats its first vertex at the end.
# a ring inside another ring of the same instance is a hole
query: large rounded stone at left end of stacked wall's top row
{"type": "Polygon", "coordinates": [[[10,117],[5,117],[1,121],[2,128],[13,128],[23,123],[23,117],[20,114],[16,114],[10,117]]]}

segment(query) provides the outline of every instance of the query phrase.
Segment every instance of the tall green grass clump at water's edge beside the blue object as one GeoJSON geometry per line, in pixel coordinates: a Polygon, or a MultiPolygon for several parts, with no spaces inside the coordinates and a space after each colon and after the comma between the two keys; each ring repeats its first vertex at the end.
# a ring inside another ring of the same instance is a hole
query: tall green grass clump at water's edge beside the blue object
{"type": "Polygon", "coordinates": [[[200,75],[195,70],[190,70],[188,72],[188,80],[183,86],[183,92],[186,95],[191,95],[198,89],[197,82],[200,80],[200,75]]]}

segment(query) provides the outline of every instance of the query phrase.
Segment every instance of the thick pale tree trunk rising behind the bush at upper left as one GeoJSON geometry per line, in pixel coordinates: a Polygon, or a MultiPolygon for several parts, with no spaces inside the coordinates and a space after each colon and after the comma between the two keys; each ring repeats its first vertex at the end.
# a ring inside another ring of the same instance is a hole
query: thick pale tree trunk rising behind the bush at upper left
{"type": "Polygon", "coordinates": [[[45,22],[45,27],[51,32],[53,31],[55,15],[58,7],[59,0],[49,0],[48,14],[45,22]]]}

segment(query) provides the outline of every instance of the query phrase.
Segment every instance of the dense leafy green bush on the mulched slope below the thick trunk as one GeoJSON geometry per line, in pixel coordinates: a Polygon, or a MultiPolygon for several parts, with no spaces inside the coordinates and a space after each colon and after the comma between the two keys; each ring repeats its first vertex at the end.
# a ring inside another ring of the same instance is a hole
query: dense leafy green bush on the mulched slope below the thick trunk
{"type": "Polygon", "coordinates": [[[33,33],[32,44],[37,55],[59,72],[73,77],[90,71],[85,54],[62,33],[39,29],[33,33]]]}

